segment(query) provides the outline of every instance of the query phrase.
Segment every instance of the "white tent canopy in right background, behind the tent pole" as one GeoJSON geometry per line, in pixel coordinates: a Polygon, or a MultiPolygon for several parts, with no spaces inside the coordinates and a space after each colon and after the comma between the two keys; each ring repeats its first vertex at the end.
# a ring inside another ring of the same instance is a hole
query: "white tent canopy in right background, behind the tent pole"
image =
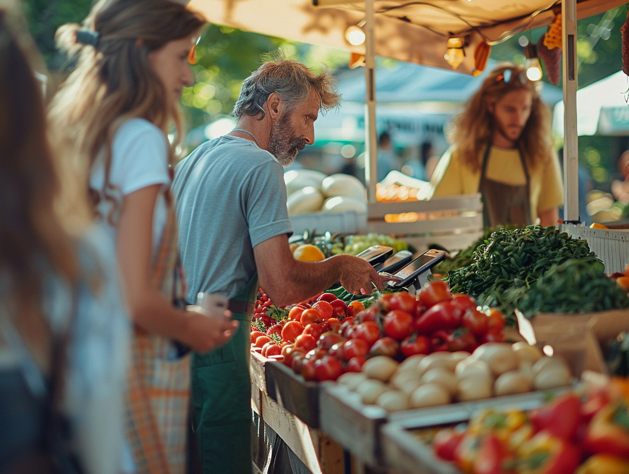
{"type": "MultiPolygon", "coordinates": [[[[577,91],[577,135],[629,135],[629,77],[623,71],[577,91]]],[[[564,135],[564,101],[555,105],[553,130],[564,135]]]]}

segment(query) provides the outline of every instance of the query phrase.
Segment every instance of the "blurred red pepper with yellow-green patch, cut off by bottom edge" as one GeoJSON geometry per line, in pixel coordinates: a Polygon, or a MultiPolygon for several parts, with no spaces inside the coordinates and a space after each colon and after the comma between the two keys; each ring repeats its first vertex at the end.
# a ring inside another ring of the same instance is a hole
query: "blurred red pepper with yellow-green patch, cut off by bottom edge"
{"type": "Polygon", "coordinates": [[[522,443],[517,456],[519,474],[572,474],[581,462],[574,444],[545,430],[522,443]]]}

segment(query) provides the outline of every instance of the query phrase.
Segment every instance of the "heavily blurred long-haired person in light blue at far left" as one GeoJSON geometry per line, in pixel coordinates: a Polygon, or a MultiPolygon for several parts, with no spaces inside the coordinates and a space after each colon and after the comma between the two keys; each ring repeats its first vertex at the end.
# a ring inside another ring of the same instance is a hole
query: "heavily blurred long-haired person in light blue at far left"
{"type": "Polygon", "coordinates": [[[118,474],[130,322],[113,246],[57,167],[15,8],[0,3],[0,473],[118,474]]]}

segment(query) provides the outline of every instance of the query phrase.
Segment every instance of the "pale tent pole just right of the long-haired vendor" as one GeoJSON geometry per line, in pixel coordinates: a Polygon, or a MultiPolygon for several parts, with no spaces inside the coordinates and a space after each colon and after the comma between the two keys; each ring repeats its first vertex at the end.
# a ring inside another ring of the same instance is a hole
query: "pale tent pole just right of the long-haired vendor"
{"type": "MultiPolygon", "coordinates": [[[[564,221],[579,222],[579,137],[577,135],[577,7],[561,3],[564,79],[564,221]]],[[[585,217],[585,216],[582,216],[585,217]]]]}

